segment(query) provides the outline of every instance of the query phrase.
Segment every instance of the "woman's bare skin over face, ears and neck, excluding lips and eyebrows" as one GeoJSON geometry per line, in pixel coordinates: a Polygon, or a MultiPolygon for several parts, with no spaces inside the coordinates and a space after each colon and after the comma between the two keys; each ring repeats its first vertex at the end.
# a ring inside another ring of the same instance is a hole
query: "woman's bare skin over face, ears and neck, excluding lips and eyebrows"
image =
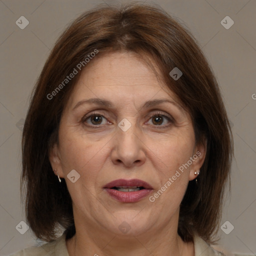
{"type": "Polygon", "coordinates": [[[69,255],[194,255],[193,243],[177,234],[177,223],[187,184],[204,156],[205,144],[195,144],[189,114],[141,57],[124,51],[95,57],[65,105],[59,144],[49,154],[73,202],[76,234],[66,241],[69,255]],[[95,97],[111,101],[112,107],[84,103],[72,110],[80,100],[95,97]],[[142,107],[163,98],[174,103],[142,107]],[[93,111],[102,119],[87,118],[93,111]],[[158,119],[150,117],[157,112],[158,119]],[[125,132],[118,127],[123,118],[131,123],[125,132]],[[153,195],[196,151],[200,156],[154,202],[148,196],[118,202],[103,189],[114,179],[138,178],[153,187],[153,195]],[[74,183],[67,178],[72,169],[80,174],[74,183]],[[125,234],[118,228],[123,221],[130,227],[125,234]]]}

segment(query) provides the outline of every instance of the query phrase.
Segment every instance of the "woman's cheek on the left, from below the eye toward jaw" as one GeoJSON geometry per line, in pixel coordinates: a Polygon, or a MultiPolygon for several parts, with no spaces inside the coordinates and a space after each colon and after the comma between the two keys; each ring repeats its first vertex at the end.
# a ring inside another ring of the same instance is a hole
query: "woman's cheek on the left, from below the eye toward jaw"
{"type": "MultiPolygon", "coordinates": [[[[94,184],[102,166],[100,159],[104,157],[100,150],[102,145],[100,147],[98,143],[76,137],[74,134],[69,136],[67,132],[60,141],[61,166],[73,206],[81,209],[84,205],[90,205],[91,208],[95,204],[91,193],[94,193],[94,184]],[[74,183],[68,179],[72,169],[80,175],[74,183]]],[[[87,209],[83,210],[87,212],[87,209]]]]}

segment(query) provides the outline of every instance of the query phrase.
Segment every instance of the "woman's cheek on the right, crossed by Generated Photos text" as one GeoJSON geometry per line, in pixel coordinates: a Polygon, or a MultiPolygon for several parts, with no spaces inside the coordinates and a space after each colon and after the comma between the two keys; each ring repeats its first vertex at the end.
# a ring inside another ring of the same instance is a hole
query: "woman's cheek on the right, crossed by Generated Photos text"
{"type": "Polygon", "coordinates": [[[182,136],[169,136],[165,143],[159,143],[157,147],[158,163],[164,163],[164,171],[159,171],[161,186],[153,196],[160,204],[170,203],[170,211],[180,204],[189,181],[190,168],[184,168],[183,164],[192,156],[194,140],[190,133],[181,134],[182,136]]]}

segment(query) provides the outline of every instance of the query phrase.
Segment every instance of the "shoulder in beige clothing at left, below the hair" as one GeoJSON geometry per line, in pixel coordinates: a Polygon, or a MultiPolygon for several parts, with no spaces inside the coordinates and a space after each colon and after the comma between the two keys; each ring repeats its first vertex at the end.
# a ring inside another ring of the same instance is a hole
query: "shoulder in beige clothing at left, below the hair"
{"type": "Polygon", "coordinates": [[[24,248],[8,256],[68,256],[65,243],[65,234],[63,233],[54,241],[45,243],[41,246],[24,248]]]}

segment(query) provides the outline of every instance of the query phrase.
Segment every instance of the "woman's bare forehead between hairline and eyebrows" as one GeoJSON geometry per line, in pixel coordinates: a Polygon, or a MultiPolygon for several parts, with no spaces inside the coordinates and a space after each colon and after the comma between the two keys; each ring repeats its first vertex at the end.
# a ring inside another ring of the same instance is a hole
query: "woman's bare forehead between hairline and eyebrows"
{"type": "Polygon", "coordinates": [[[156,63],[148,56],[142,58],[133,52],[109,52],[92,59],[82,70],[68,106],[91,97],[122,104],[138,104],[154,97],[177,101],[161,79],[156,63]]]}

